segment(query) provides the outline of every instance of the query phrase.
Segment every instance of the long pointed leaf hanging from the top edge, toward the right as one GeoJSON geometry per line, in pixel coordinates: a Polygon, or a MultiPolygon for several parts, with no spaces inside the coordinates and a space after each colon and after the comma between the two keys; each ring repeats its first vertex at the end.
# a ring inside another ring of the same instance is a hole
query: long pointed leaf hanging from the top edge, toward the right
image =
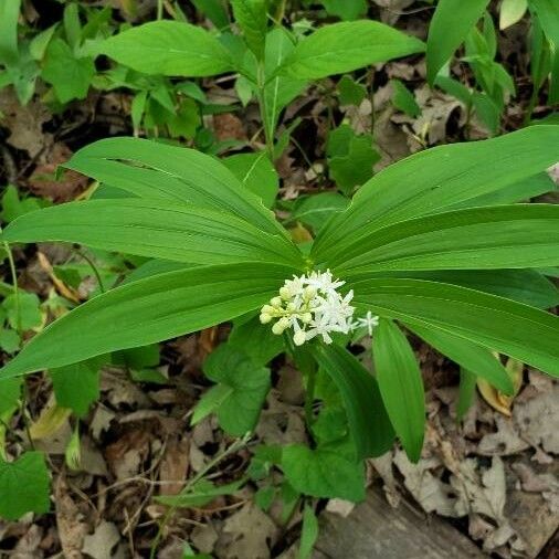
{"type": "Polygon", "coordinates": [[[439,0],[428,36],[428,81],[431,85],[439,71],[482,18],[488,3],[489,0],[468,0],[467,2],[439,0]]]}

